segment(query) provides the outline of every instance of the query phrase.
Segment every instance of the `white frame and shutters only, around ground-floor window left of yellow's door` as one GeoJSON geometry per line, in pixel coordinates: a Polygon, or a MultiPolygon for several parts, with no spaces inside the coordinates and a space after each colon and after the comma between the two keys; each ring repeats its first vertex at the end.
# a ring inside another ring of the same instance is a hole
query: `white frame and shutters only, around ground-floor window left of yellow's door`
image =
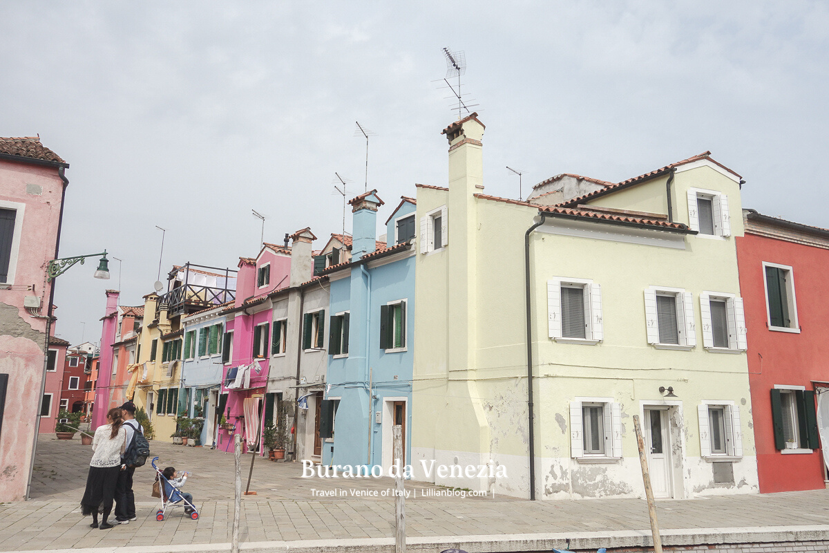
{"type": "Polygon", "coordinates": [[[579,463],[618,463],[622,459],[622,405],[612,397],[576,397],[570,401],[570,456],[579,463]],[[604,407],[604,454],[584,453],[585,406],[604,407]]]}

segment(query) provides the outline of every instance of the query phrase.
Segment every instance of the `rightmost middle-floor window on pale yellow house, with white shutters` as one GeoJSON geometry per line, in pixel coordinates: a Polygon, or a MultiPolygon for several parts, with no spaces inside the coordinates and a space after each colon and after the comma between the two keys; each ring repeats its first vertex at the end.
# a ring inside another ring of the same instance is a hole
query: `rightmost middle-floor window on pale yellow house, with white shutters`
{"type": "Polygon", "coordinates": [[[745,351],[745,315],[743,299],[733,293],[700,294],[702,345],[713,351],[745,351]]]}

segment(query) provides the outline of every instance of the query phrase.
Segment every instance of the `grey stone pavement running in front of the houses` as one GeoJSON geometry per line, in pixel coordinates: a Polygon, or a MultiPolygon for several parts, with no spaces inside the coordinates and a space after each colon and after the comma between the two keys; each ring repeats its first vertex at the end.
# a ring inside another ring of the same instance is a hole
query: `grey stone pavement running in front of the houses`
{"type": "MultiPolygon", "coordinates": [[[[172,465],[192,472],[187,491],[200,509],[199,520],[184,518],[180,509],[173,510],[165,521],[155,520],[158,502],[149,497],[153,469],[148,464],[135,473],[138,521],[107,531],[90,529],[90,519],[80,516],[78,503],[91,449],[80,445],[80,439],[58,441],[44,436],[38,444],[32,500],[0,504],[0,551],[91,547],[112,551],[119,546],[161,546],[156,551],[164,551],[165,546],[229,542],[233,455],[156,442],[151,443],[151,449],[161,458],[162,467],[172,465]]],[[[242,463],[246,480],[250,455],[244,455],[242,463]]],[[[381,495],[394,488],[389,478],[324,480],[300,475],[298,463],[255,458],[250,488],[257,495],[242,500],[242,541],[362,539],[380,543],[394,536],[394,499],[381,495]],[[351,497],[351,489],[376,492],[378,497],[351,497]],[[314,490],[343,490],[346,495],[316,497],[314,490]]],[[[421,483],[407,483],[406,488],[417,494],[405,507],[406,533],[415,540],[545,532],[577,536],[621,531],[638,536],[647,534],[649,528],[647,505],[638,499],[529,502],[510,497],[424,497],[424,491],[445,489],[421,483]]],[[[829,525],[827,490],[661,501],[657,509],[660,527],[677,532],[762,526],[829,529],[824,526],[829,525]]]]}

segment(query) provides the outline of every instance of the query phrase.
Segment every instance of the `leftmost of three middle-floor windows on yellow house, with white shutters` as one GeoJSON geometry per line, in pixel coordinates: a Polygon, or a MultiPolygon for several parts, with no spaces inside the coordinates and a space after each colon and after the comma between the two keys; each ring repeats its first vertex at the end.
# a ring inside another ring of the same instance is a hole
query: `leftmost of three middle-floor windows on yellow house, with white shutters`
{"type": "Polygon", "coordinates": [[[589,279],[547,280],[547,323],[548,334],[556,342],[603,340],[601,286],[589,279]]]}

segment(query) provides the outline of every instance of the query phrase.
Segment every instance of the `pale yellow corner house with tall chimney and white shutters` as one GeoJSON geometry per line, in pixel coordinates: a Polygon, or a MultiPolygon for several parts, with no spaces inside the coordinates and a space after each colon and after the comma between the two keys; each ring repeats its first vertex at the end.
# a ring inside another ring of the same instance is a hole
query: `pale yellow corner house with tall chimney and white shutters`
{"type": "Polygon", "coordinates": [[[507,200],[484,194],[483,130],[475,114],[445,129],[448,188],[418,185],[414,478],[642,497],[639,415],[657,497],[757,492],[739,175],[705,153],[507,200]],[[501,469],[452,478],[433,460],[501,469]]]}

